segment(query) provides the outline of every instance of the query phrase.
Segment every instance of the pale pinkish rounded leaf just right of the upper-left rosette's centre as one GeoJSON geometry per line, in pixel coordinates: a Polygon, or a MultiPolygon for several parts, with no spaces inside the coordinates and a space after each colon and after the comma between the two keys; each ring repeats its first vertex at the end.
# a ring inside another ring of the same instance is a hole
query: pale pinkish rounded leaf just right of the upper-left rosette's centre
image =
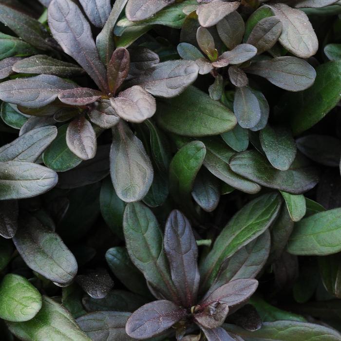
{"type": "Polygon", "coordinates": [[[139,85],[120,92],[110,103],[119,117],[133,123],[143,122],[156,111],[155,98],[139,85]]]}

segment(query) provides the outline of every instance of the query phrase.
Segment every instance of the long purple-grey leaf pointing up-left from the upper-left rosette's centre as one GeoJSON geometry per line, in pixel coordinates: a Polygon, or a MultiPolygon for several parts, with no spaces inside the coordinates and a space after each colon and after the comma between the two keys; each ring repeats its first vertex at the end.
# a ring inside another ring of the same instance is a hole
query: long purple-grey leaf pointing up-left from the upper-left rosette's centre
{"type": "Polygon", "coordinates": [[[99,58],[91,27],[78,6],[71,0],[53,0],[48,10],[48,22],[64,52],[83,67],[102,91],[108,92],[106,71],[99,58]]]}

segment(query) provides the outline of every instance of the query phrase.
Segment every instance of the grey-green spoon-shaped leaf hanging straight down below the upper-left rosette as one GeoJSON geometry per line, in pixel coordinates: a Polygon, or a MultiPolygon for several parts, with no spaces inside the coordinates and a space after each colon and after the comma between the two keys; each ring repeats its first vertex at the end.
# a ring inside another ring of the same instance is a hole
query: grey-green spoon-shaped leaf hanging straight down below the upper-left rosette
{"type": "Polygon", "coordinates": [[[120,121],[112,131],[110,173],[114,189],[125,202],[139,201],[152,185],[152,163],[127,124],[120,121]]]}

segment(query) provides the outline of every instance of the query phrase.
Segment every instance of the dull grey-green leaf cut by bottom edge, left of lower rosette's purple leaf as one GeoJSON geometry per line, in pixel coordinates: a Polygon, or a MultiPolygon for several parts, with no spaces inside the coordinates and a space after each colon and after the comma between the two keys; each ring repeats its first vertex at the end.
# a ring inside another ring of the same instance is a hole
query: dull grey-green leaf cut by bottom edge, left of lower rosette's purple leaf
{"type": "Polygon", "coordinates": [[[126,334],[126,323],[130,313],[117,311],[97,311],[79,317],[76,322],[80,329],[93,341],[122,340],[133,341],[126,334]]]}

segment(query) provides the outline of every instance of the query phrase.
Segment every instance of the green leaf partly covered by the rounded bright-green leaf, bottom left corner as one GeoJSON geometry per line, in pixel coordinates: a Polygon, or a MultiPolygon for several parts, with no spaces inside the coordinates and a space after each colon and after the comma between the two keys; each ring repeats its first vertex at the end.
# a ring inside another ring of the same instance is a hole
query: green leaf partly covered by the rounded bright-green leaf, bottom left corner
{"type": "Polygon", "coordinates": [[[27,322],[7,322],[10,331],[24,341],[91,341],[78,327],[71,314],[52,299],[43,296],[42,307],[27,322]]]}

